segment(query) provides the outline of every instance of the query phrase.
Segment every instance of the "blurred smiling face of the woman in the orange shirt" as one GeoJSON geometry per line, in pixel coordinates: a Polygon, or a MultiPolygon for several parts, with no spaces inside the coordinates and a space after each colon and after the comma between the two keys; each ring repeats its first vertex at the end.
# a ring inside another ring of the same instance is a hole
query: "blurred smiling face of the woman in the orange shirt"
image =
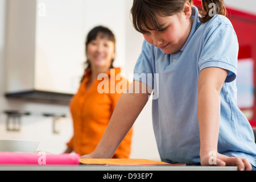
{"type": "Polygon", "coordinates": [[[97,36],[88,43],[86,53],[93,68],[110,68],[114,57],[114,43],[106,38],[97,36]]]}

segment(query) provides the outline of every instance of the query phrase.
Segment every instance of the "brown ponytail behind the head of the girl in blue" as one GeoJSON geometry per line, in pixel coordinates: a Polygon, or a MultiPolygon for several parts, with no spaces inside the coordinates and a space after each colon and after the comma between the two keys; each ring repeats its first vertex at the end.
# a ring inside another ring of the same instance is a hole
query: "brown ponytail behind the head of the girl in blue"
{"type": "Polygon", "coordinates": [[[202,6],[204,13],[199,19],[203,23],[207,22],[216,14],[226,15],[224,0],[202,0],[202,6]]]}

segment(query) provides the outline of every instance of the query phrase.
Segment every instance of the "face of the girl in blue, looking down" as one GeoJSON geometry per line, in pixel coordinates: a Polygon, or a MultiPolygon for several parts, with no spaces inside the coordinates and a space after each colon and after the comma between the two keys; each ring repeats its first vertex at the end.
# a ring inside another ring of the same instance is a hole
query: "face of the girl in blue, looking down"
{"type": "Polygon", "coordinates": [[[146,30],[143,34],[144,39],[163,50],[164,53],[174,53],[179,51],[186,42],[191,31],[193,18],[191,14],[179,13],[172,16],[158,16],[159,24],[162,24],[161,30],[146,30]]]}

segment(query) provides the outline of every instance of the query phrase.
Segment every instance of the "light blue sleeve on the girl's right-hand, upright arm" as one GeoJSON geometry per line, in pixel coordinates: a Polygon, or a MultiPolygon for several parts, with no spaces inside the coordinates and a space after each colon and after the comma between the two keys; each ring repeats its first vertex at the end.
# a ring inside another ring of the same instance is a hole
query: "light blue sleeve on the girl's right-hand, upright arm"
{"type": "MultiPolygon", "coordinates": [[[[218,17],[217,17],[218,18],[218,17]]],[[[226,20],[214,24],[205,34],[199,58],[199,70],[218,67],[229,71],[225,82],[232,82],[237,74],[238,40],[232,24],[226,20]]]]}

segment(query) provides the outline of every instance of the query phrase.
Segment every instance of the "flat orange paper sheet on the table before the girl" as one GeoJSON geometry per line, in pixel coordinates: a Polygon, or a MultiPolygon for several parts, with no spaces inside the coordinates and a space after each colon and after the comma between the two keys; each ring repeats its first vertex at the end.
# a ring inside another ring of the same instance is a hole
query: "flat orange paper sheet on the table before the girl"
{"type": "Polygon", "coordinates": [[[81,164],[119,165],[119,166],[185,166],[185,164],[169,164],[148,159],[79,159],[81,164]]]}

